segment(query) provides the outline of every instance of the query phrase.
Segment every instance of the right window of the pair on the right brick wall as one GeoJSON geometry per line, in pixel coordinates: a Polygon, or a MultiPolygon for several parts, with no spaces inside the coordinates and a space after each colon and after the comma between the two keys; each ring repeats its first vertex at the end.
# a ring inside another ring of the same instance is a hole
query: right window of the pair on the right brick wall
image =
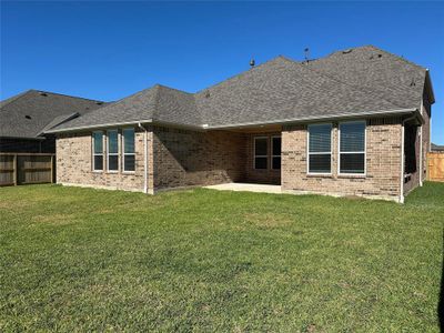
{"type": "Polygon", "coordinates": [[[365,173],[365,122],[340,123],[340,174],[365,173]]]}

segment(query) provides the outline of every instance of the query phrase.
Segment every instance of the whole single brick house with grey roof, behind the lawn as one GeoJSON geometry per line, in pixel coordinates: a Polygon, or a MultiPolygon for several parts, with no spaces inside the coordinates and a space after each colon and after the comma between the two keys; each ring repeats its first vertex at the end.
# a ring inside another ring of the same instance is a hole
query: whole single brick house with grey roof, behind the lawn
{"type": "Polygon", "coordinates": [[[375,47],[154,85],[57,125],[57,181],[155,193],[226,182],[403,202],[430,150],[428,71],[375,47]]]}

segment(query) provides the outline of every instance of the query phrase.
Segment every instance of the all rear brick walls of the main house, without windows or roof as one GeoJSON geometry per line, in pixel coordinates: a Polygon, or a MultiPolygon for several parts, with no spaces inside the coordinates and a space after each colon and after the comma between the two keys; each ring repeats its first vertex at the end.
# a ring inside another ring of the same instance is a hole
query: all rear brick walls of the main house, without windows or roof
{"type": "MultiPolygon", "coordinates": [[[[236,181],[279,183],[282,174],[282,189],[287,192],[364,195],[393,200],[400,196],[400,118],[367,120],[365,176],[337,174],[337,123],[333,123],[332,175],[329,176],[306,173],[306,125],[283,128],[282,171],[268,170],[260,174],[261,171],[253,169],[254,135],[256,134],[229,131],[198,132],[149,128],[149,191],[153,193],[162,189],[236,181]]],[[[92,171],[90,132],[60,134],[57,140],[57,181],[143,191],[143,138],[144,132],[137,129],[135,172],[124,174],[92,171]]]]}

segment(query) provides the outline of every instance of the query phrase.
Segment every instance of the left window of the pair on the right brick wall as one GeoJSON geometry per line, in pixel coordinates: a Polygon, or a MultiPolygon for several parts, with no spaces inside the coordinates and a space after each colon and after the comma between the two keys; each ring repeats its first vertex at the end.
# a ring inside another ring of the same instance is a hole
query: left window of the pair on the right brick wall
{"type": "Polygon", "coordinates": [[[332,172],[332,124],[309,125],[309,173],[332,172]]]}

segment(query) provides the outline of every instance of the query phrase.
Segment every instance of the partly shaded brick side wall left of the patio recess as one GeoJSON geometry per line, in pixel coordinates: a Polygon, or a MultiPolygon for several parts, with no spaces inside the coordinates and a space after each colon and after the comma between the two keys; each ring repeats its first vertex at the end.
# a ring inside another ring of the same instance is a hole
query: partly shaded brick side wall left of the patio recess
{"type": "Polygon", "coordinates": [[[242,181],[245,138],[228,131],[153,129],[154,189],[242,181]]]}

